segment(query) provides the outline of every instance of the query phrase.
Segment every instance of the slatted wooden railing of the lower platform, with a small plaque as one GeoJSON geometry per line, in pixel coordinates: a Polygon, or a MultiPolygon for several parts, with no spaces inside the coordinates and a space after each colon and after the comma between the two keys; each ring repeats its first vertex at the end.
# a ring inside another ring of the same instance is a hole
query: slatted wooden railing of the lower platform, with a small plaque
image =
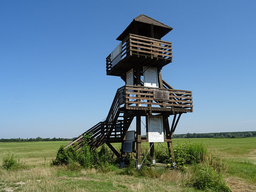
{"type": "Polygon", "coordinates": [[[126,110],[193,112],[192,91],[125,85],[126,110]]]}

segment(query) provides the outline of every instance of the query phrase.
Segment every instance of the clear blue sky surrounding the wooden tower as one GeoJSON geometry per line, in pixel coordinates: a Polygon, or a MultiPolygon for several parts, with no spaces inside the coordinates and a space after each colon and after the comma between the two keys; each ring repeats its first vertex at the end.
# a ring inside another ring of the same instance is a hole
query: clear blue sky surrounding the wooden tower
{"type": "Polygon", "coordinates": [[[173,27],[162,77],[193,91],[175,134],[256,130],[256,1],[0,2],[0,138],[76,137],[124,81],[105,58],[134,17],[173,27]]]}

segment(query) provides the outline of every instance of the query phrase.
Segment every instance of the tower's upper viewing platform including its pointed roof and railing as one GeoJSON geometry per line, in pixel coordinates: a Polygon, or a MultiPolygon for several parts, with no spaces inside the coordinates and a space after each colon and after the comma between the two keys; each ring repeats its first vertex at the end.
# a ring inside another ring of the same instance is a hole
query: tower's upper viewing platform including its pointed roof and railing
{"type": "Polygon", "coordinates": [[[136,66],[162,68],[172,62],[172,43],[161,40],[172,29],[143,14],[134,18],[106,58],[107,75],[123,76],[136,66]]]}

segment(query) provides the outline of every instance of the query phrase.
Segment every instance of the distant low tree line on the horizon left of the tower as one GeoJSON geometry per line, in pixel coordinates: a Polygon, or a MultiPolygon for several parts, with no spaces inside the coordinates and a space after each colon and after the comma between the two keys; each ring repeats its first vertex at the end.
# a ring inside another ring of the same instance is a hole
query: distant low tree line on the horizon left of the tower
{"type": "Polygon", "coordinates": [[[11,139],[0,139],[0,142],[54,142],[54,141],[73,141],[76,138],[41,138],[41,137],[37,137],[37,138],[27,138],[27,139],[23,139],[23,138],[11,138],[11,139]]]}

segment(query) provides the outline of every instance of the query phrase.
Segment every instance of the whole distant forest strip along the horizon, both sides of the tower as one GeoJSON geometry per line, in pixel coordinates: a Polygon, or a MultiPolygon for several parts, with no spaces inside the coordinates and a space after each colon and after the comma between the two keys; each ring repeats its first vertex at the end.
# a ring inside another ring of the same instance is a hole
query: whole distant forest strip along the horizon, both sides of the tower
{"type": "MultiPolygon", "coordinates": [[[[142,136],[146,137],[146,136],[142,136]]],[[[236,137],[256,137],[256,131],[242,131],[242,132],[221,132],[221,133],[187,133],[174,134],[173,138],[236,138],[236,137]]],[[[0,139],[0,142],[52,142],[52,141],[73,141],[76,138],[11,138],[0,139]]]]}

